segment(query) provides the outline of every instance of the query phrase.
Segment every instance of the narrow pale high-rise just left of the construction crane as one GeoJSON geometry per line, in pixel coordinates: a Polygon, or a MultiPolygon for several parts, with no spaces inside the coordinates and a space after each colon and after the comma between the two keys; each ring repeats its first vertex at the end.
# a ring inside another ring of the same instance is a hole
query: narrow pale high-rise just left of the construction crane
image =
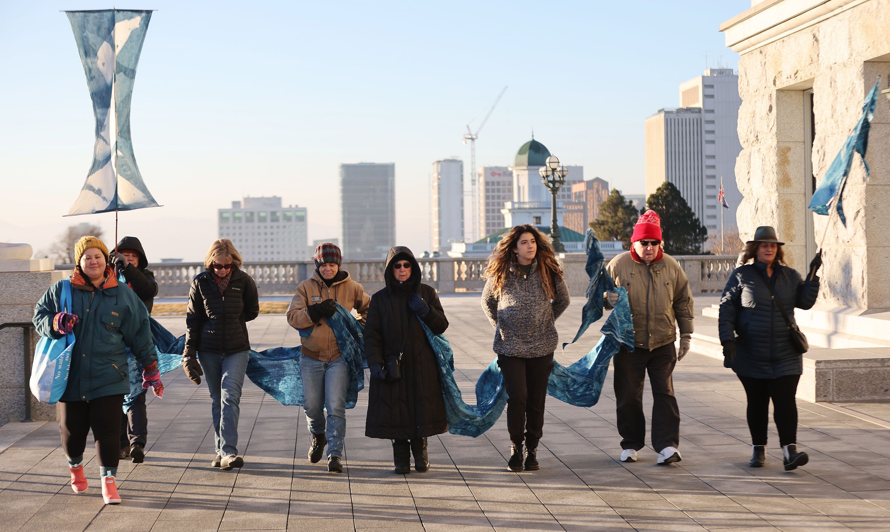
{"type": "Polygon", "coordinates": [[[434,162],[430,193],[433,251],[445,252],[464,240],[464,162],[434,162]]]}

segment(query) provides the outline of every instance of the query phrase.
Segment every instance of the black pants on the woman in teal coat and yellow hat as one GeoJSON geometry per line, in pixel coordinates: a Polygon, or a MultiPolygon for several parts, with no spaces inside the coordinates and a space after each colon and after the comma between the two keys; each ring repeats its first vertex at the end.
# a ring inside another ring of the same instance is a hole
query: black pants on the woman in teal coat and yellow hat
{"type": "Polygon", "coordinates": [[[75,458],[84,454],[86,435],[93,429],[99,465],[117,467],[120,413],[123,395],[106,395],[88,401],[61,403],[59,431],[65,455],[75,458]]]}

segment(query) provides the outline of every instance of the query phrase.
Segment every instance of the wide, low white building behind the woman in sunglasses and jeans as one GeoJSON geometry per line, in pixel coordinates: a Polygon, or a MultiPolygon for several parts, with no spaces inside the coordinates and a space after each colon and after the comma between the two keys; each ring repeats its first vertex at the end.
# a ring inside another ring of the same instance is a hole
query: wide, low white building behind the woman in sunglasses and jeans
{"type": "Polygon", "coordinates": [[[281,198],[245,197],[219,209],[219,238],[229,238],[245,262],[305,261],[306,207],[281,206],[281,198]]]}

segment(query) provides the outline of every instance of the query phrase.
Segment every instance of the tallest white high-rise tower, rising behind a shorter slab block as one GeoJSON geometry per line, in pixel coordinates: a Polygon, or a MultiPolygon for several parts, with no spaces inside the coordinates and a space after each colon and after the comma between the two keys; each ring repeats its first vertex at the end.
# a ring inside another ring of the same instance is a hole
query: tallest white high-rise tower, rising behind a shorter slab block
{"type": "Polygon", "coordinates": [[[732,69],[707,69],[704,76],[693,77],[680,85],[681,107],[703,110],[705,141],[705,217],[708,230],[720,227],[720,203],[717,192],[723,177],[728,209],[724,210],[724,228],[737,227],[735,211],[741,193],[735,183],[735,159],[741,152],[738,122],[741,98],[739,76],[732,69]]]}

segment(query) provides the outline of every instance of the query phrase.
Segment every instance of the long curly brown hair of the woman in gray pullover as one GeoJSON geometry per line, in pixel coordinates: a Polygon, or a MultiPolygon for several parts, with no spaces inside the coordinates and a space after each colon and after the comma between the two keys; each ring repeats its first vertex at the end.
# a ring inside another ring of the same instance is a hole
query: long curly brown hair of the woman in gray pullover
{"type": "MultiPolygon", "coordinates": [[[[535,243],[538,246],[535,252],[535,260],[538,261],[538,277],[541,278],[541,286],[544,288],[544,293],[547,294],[547,297],[553,299],[555,294],[554,277],[557,275],[562,277],[562,267],[559,261],[556,260],[556,254],[554,253],[554,247],[550,244],[550,238],[542,235],[533,225],[517,225],[507,231],[500,239],[500,242],[498,242],[498,246],[495,246],[494,251],[491,252],[489,264],[485,267],[485,273],[482,276],[494,279],[494,294],[495,297],[500,297],[506,279],[510,274],[510,266],[519,264],[516,260],[514,249],[519,243],[519,238],[525,233],[530,233],[535,238],[535,243]]],[[[518,283],[519,276],[516,276],[514,280],[518,283]]]]}

